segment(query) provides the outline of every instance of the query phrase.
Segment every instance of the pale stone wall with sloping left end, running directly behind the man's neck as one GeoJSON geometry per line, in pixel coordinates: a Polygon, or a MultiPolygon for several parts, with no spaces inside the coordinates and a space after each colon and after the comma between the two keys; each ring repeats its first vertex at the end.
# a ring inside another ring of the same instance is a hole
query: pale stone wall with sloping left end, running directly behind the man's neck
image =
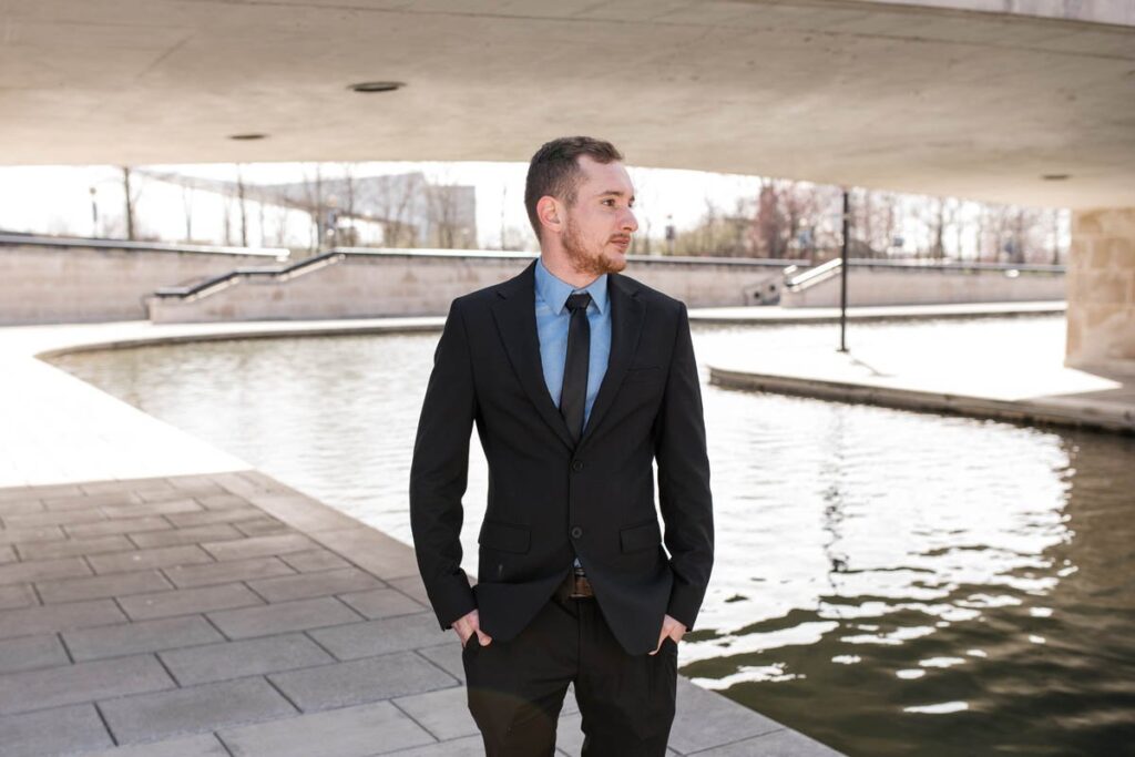
{"type": "MultiPolygon", "coordinates": [[[[287,277],[243,276],[204,296],[153,297],[154,322],[444,316],[454,297],[504,281],[531,253],[344,251],[287,277]]],[[[758,304],[791,261],[631,256],[624,272],[691,308],[758,304]]]]}

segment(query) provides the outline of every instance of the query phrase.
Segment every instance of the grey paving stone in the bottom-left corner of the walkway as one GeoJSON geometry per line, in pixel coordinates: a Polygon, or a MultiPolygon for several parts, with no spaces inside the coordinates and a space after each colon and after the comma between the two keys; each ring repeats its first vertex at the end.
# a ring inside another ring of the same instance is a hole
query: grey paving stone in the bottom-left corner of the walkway
{"type": "Polygon", "coordinates": [[[0,717],[5,757],[56,757],[114,746],[94,705],[0,717]]]}

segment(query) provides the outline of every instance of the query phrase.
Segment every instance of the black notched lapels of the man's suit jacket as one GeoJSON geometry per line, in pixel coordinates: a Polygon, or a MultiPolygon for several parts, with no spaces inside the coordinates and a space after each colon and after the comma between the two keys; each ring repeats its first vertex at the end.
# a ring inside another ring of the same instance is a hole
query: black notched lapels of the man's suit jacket
{"type": "MultiPolygon", "coordinates": [[[[599,384],[599,393],[591,406],[579,446],[594,436],[603,417],[609,410],[619,387],[627,377],[646,314],[646,305],[638,298],[638,287],[617,274],[607,276],[607,296],[611,306],[611,355],[607,370],[599,384]]],[[[544,380],[540,363],[540,342],[536,330],[536,261],[519,276],[496,288],[493,318],[501,333],[508,362],[516,378],[544,421],[569,449],[575,448],[568,423],[556,407],[544,380]]]]}

